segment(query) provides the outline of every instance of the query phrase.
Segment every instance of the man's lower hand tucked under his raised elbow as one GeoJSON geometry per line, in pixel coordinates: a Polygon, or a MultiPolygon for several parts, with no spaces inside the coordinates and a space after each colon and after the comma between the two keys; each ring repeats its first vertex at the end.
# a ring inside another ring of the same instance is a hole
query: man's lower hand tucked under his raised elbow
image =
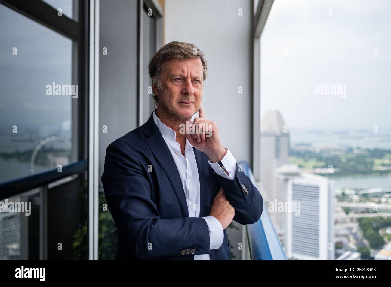
{"type": "Polygon", "coordinates": [[[222,188],[219,190],[215,196],[215,199],[213,200],[209,216],[216,217],[217,220],[220,221],[223,230],[226,229],[228,225],[230,225],[233,217],[235,216],[235,209],[225,198],[222,188]]]}

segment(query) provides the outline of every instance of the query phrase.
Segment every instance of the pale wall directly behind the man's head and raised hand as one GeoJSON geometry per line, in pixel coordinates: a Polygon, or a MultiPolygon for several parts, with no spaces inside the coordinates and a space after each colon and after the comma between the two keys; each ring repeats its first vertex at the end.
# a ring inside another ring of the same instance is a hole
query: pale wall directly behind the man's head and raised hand
{"type": "MultiPolygon", "coordinates": [[[[205,53],[209,77],[203,95],[208,119],[237,161],[251,162],[250,0],[166,0],[165,43],[192,43],[205,53]],[[243,16],[238,16],[238,9],[243,16]],[[238,94],[238,87],[243,93],[238,94]]],[[[198,116],[196,114],[196,116],[198,116]]]]}

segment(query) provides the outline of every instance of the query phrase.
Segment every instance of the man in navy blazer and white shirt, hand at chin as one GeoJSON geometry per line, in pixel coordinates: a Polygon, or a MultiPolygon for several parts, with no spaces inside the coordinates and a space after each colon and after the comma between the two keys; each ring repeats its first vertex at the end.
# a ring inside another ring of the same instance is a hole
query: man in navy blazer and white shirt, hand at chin
{"type": "Polygon", "coordinates": [[[231,260],[226,228],[258,221],[263,200],[206,118],[204,53],[168,43],[149,75],[157,108],[108,146],[101,177],[117,259],[231,260]]]}

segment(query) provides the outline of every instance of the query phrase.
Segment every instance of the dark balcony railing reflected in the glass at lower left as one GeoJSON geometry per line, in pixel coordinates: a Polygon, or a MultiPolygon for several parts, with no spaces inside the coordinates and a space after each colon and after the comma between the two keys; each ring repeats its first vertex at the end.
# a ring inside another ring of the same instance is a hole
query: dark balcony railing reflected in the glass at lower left
{"type": "MultiPolygon", "coordinates": [[[[81,197],[86,196],[86,170],[84,159],[63,166],[61,172],[53,168],[0,183],[0,200],[28,203],[29,209],[29,214],[27,210],[0,214],[4,232],[0,247],[5,250],[0,260],[70,260],[80,255],[70,246],[87,217],[81,197]],[[50,248],[53,242],[64,244],[61,253],[50,248]]],[[[84,244],[84,239],[78,240],[84,244]]],[[[87,259],[84,254],[78,258],[87,259]]]]}

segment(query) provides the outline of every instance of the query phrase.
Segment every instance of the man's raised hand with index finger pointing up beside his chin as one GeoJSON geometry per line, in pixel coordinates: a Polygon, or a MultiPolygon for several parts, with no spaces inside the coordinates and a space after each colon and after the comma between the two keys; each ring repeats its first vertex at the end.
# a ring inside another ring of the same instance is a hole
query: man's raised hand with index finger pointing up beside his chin
{"type": "Polygon", "coordinates": [[[208,121],[203,105],[198,111],[199,118],[189,121],[186,137],[197,150],[208,155],[212,162],[220,161],[227,153],[221,144],[219,129],[214,121],[208,121]]]}

